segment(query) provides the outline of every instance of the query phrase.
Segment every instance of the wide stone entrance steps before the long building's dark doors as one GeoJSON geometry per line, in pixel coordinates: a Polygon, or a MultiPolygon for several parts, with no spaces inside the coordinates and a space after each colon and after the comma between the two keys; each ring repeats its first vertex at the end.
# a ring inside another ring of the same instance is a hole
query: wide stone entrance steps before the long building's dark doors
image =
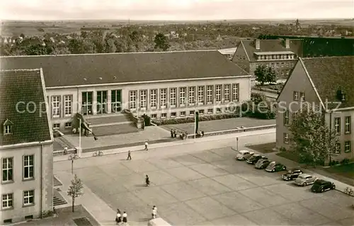
{"type": "Polygon", "coordinates": [[[90,123],[90,128],[97,137],[139,132],[135,123],[133,123],[129,115],[125,113],[86,116],[85,120],[90,123]]]}

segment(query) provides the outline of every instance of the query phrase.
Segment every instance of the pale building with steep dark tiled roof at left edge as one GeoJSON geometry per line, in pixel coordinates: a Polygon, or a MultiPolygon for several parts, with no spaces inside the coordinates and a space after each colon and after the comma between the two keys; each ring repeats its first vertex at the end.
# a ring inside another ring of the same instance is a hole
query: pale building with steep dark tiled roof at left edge
{"type": "Polygon", "coordinates": [[[1,225],[52,210],[52,130],[40,69],[0,71],[1,225]]]}

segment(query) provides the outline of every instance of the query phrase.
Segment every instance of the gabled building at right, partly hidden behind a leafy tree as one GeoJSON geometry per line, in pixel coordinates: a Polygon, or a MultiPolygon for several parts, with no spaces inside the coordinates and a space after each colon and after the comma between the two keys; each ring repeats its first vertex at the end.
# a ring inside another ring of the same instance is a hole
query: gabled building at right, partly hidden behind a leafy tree
{"type": "Polygon", "coordinates": [[[276,145],[290,147],[288,126],[299,110],[299,102],[315,103],[324,110],[326,123],[336,130],[336,159],[354,159],[354,56],[299,58],[278,101],[276,145]]]}

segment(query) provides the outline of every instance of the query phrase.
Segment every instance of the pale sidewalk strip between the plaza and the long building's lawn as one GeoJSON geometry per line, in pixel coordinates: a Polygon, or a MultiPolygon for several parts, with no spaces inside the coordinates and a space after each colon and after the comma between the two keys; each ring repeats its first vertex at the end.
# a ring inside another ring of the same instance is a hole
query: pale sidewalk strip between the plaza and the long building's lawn
{"type": "MultiPolygon", "coordinates": [[[[217,135],[217,136],[210,136],[210,137],[200,137],[194,139],[187,139],[187,140],[176,140],[173,142],[164,142],[164,143],[156,143],[149,145],[149,149],[159,149],[159,148],[164,148],[164,147],[173,147],[173,146],[179,146],[179,145],[190,145],[193,143],[202,143],[202,142],[210,142],[210,141],[216,141],[216,140],[227,140],[227,139],[236,139],[236,137],[248,137],[248,136],[253,136],[253,135],[263,135],[263,134],[268,134],[268,133],[275,133],[275,128],[274,129],[267,129],[267,130],[254,130],[254,131],[249,131],[249,132],[240,132],[240,133],[230,133],[226,135],[217,135]]],[[[236,143],[236,141],[235,141],[236,143]]],[[[137,151],[142,151],[144,149],[144,142],[141,143],[140,146],[135,146],[135,147],[122,147],[122,148],[117,148],[117,149],[108,149],[103,151],[103,155],[107,154],[119,154],[119,153],[124,153],[124,152],[137,152],[137,151]]],[[[92,157],[93,152],[86,152],[81,154],[81,158],[87,158],[87,157],[92,157]]],[[[69,157],[68,155],[62,155],[62,156],[57,156],[54,157],[54,162],[59,162],[59,161],[67,161],[69,157]]]]}

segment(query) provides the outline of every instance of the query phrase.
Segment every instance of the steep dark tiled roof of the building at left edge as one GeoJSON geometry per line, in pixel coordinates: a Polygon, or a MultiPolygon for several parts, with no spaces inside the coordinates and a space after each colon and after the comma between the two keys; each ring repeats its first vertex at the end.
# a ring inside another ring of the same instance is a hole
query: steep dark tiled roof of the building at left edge
{"type": "Polygon", "coordinates": [[[0,146],[51,140],[43,87],[40,69],[0,71],[0,146]],[[13,124],[9,135],[6,121],[13,124]]]}

